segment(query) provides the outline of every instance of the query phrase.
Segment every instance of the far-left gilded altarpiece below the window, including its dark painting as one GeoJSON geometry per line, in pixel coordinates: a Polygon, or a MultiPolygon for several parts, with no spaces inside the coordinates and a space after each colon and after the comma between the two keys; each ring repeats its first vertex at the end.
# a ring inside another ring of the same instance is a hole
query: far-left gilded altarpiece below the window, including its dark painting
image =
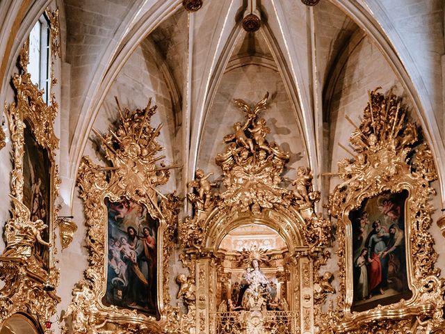
{"type": "MultiPolygon", "coordinates": [[[[54,61],[60,56],[58,10],[47,9],[49,19],[51,88],[57,83],[54,61]]],[[[29,41],[19,54],[19,73],[12,85],[16,101],[5,105],[8,119],[13,171],[11,175],[12,217],[4,230],[6,249],[0,257],[0,324],[13,315],[26,315],[39,331],[50,333],[51,317],[60,301],[54,293],[59,271],[54,255],[58,167],[54,120],[58,104],[51,93],[48,104],[43,90],[31,81],[27,70],[29,41]]],[[[35,79],[35,78],[33,78],[35,79]]],[[[4,137],[3,134],[0,137],[4,137]]]]}

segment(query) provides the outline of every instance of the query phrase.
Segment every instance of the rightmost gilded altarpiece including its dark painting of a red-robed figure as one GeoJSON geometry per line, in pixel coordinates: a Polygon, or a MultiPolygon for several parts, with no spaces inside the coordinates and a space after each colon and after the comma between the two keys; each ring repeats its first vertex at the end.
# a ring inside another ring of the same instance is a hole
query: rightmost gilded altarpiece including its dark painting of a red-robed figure
{"type": "Polygon", "coordinates": [[[339,161],[342,182],[330,195],[340,287],[321,333],[442,333],[430,149],[401,99],[377,90],[350,143],[355,158],[339,161]]]}

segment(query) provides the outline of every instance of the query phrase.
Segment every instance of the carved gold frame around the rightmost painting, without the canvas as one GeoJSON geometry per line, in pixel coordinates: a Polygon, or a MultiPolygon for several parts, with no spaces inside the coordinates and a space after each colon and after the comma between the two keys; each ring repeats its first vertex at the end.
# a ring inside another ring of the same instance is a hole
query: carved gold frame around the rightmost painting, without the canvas
{"type": "Polygon", "coordinates": [[[337,309],[331,310],[332,317],[322,328],[323,333],[431,333],[444,325],[444,280],[435,268],[437,253],[428,232],[432,223],[428,200],[435,193],[429,183],[437,174],[430,149],[420,142],[418,132],[400,98],[376,90],[369,94],[362,122],[350,137],[357,155],[339,162],[343,182],[330,195],[330,213],[338,219],[340,282],[337,309]],[[412,297],[351,312],[355,259],[349,214],[364,200],[401,191],[408,193],[405,250],[412,297]]]}

